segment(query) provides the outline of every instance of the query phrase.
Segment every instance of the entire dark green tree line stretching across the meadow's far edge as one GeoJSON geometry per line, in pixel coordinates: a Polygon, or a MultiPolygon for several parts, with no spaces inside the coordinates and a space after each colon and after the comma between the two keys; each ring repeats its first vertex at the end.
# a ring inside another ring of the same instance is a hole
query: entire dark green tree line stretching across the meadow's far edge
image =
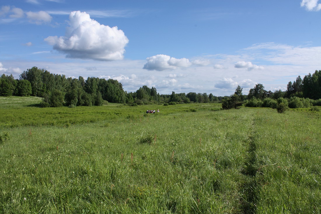
{"type": "Polygon", "coordinates": [[[137,91],[127,93],[122,84],[114,79],[88,77],[85,80],[82,76],[78,79],[66,78],[65,75],[51,74],[37,67],[23,71],[19,79],[5,74],[0,77],[0,96],[42,97],[41,107],[92,106],[102,105],[106,101],[128,105],[222,102],[223,108],[228,109],[240,105],[270,107],[276,105],[274,102],[276,100],[281,102],[280,99],[287,100],[288,103],[292,101],[304,103],[303,99],[321,99],[321,70],[316,70],[312,75],[309,73],[303,80],[298,76],[293,83],[291,81],[288,83],[286,91],[266,91],[262,84],[256,84],[247,95],[243,95],[242,89],[238,85],[234,94],[221,97],[212,93],[195,92],[176,94],[173,91],[172,94],[159,94],[155,87],[149,88],[143,85],[137,91]]]}

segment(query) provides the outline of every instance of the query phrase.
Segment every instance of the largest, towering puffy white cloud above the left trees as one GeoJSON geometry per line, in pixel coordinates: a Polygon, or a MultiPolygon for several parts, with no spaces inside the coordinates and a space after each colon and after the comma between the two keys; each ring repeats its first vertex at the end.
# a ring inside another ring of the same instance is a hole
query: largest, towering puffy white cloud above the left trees
{"type": "Polygon", "coordinates": [[[67,58],[102,61],[124,58],[128,39],[117,26],[109,27],[90,18],[85,12],[73,11],[69,15],[65,36],[45,39],[53,48],[66,53],[67,58]]]}

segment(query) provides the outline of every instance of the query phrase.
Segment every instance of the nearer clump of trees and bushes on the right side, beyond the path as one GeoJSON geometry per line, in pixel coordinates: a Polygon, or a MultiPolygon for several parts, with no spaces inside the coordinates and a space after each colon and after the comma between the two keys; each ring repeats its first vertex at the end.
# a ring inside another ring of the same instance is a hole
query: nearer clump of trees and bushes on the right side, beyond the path
{"type": "Polygon", "coordinates": [[[241,105],[277,108],[281,103],[290,108],[321,106],[321,70],[312,75],[309,73],[303,80],[298,76],[293,83],[288,83],[286,91],[266,91],[262,84],[256,84],[247,95],[243,95],[238,85],[234,94],[222,100],[222,108],[238,108],[241,105]]]}

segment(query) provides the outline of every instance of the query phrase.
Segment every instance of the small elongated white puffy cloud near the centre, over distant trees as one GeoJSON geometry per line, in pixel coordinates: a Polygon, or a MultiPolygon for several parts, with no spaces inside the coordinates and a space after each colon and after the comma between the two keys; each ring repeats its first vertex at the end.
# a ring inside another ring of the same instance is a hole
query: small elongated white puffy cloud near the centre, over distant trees
{"type": "Polygon", "coordinates": [[[147,63],[143,69],[163,71],[166,69],[177,69],[189,67],[192,63],[187,58],[177,59],[163,54],[146,58],[147,63]]]}

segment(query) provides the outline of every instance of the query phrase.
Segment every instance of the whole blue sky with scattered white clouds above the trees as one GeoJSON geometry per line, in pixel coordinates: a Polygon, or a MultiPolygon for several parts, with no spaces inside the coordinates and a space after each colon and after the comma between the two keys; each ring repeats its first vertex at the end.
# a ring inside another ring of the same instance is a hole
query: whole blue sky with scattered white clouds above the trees
{"type": "Polygon", "coordinates": [[[321,0],[1,0],[0,75],[31,67],[127,92],[286,90],[321,70],[321,0]]]}

